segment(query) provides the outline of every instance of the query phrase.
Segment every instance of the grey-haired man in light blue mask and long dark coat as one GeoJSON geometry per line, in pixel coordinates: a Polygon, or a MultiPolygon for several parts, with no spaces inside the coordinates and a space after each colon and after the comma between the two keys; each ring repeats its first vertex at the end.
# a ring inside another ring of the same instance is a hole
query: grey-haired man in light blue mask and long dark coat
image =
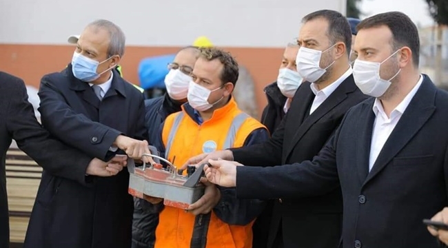
{"type": "MultiPolygon", "coordinates": [[[[39,89],[43,127],[105,161],[114,154],[140,159],[149,153],[143,94],[114,70],[124,48],[118,26],[94,21],[79,37],[68,68],[43,76],[39,89]]],[[[128,170],[109,178],[85,176],[90,187],[44,169],[24,247],[131,246],[128,170]]]]}

